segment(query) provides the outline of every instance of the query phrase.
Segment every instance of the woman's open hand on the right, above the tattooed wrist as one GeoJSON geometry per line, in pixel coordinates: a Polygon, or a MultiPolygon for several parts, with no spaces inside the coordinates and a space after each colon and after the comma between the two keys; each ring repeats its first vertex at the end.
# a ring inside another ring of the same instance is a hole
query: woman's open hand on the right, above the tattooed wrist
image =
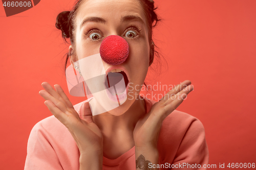
{"type": "Polygon", "coordinates": [[[193,91],[191,82],[186,80],[176,85],[157,103],[151,110],[139,119],[137,122],[133,136],[135,147],[153,147],[157,149],[158,135],[163,120],[172,113],[186,98],[186,95],[193,91]]]}

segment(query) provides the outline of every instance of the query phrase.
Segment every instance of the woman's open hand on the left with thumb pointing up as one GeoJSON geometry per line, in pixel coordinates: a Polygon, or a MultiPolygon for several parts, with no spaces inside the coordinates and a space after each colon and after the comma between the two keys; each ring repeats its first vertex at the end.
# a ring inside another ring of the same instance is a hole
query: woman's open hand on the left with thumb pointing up
{"type": "Polygon", "coordinates": [[[43,82],[41,85],[45,90],[40,90],[39,94],[46,100],[45,104],[52,114],[68,128],[77,144],[80,155],[102,153],[103,136],[93,122],[89,103],[83,104],[81,119],[60,85],[54,85],[56,91],[47,82],[43,82]]]}

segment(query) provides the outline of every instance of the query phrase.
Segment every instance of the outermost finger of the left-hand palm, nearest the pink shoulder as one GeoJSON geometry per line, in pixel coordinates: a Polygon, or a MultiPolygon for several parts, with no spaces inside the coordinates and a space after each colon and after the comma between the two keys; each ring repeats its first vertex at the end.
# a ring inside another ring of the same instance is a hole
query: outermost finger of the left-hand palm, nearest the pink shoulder
{"type": "Polygon", "coordinates": [[[67,127],[67,118],[68,115],[63,113],[58,107],[56,107],[51,101],[47,100],[45,101],[45,105],[48,107],[48,109],[51,111],[51,113],[61,122],[63,125],[67,127]]]}

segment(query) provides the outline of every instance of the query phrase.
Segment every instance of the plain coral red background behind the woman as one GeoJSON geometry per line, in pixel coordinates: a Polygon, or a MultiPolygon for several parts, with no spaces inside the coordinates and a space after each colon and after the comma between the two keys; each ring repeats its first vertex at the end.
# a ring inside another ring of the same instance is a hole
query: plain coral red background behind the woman
{"type": "MultiPolygon", "coordinates": [[[[60,84],[68,93],[63,71],[68,44],[55,28],[55,19],[73,3],[45,0],[10,17],[0,7],[3,170],[24,168],[32,127],[52,115],[38,94],[41,83],[60,84]]],[[[256,163],[256,1],[156,0],[155,4],[164,19],[154,30],[155,43],[169,64],[158,82],[193,83],[195,90],[177,110],[203,123],[209,164],[256,163]]],[[[84,100],[68,96],[73,104],[84,100]]]]}

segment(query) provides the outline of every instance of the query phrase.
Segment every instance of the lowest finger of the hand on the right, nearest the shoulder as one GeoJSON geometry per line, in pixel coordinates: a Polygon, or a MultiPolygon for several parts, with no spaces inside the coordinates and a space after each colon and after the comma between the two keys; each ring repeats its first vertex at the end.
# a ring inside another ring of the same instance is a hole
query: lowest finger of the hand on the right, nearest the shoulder
{"type": "Polygon", "coordinates": [[[182,93],[172,103],[169,103],[168,105],[164,106],[165,113],[163,115],[163,118],[167,117],[170,113],[177,109],[177,107],[180,106],[180,104],[184,101],[186,96],[186,93],[182,93]]]}

